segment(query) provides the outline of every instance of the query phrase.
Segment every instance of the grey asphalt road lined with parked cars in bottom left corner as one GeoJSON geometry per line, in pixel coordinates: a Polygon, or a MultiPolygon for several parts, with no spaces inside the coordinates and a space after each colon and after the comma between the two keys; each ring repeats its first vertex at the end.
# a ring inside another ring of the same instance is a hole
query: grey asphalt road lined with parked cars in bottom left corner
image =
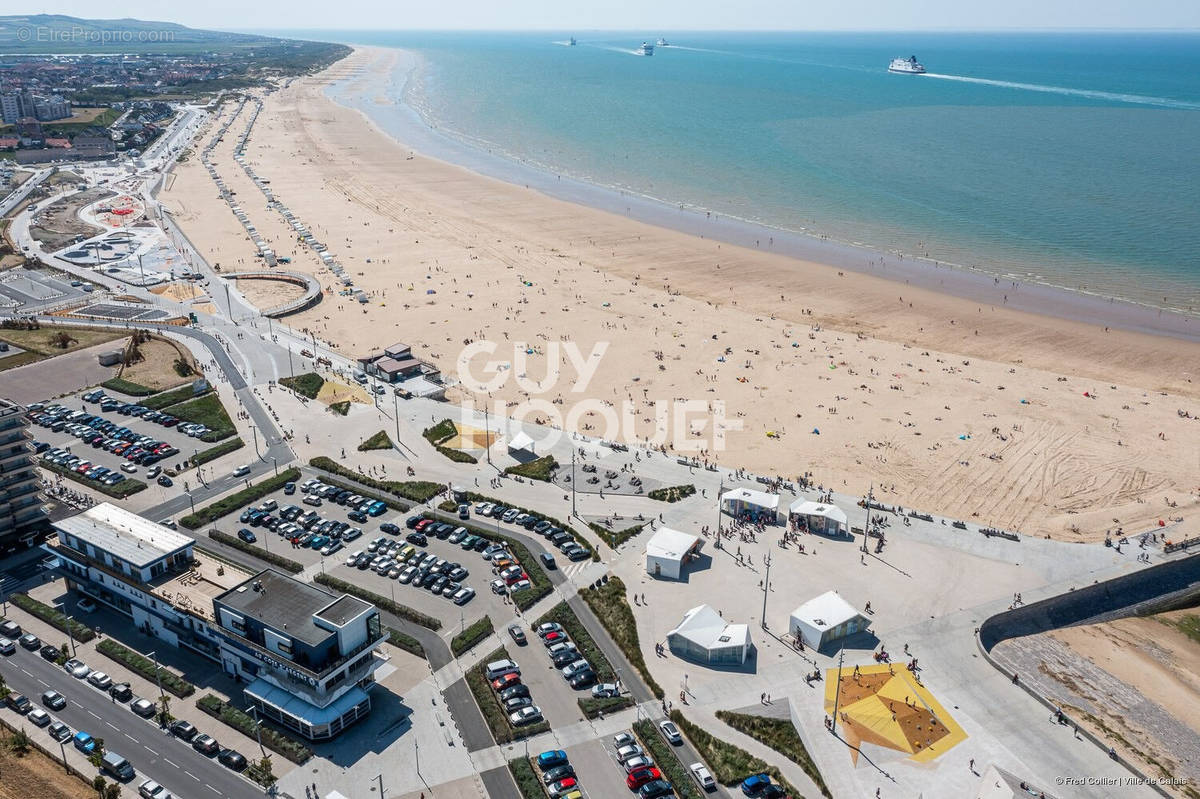
{"type": "MultiPolygon", "coordinates": [[[[263,791],[245,777],[164,733],[155,722],[136,716],[127,707],[114,705],[107,693],[66,674],[36,653],[18,648],[14,654],[0,659],[0,673],[8,687],[28,696],[36,707],[41,707],[40,697],[48,689],[65,696],[67,705],[50,715],[72,729],[86,729],[103,738],[108,750],[124,755],[138,773],[130,783],[132,791],[143,780],[152,779],[176,797],[211,793],[251,799],[263,795],[263,791]]],[[[16,714],[11,710],[2,713],[8,714],[8,721],[14,720],[16,714]]]]}

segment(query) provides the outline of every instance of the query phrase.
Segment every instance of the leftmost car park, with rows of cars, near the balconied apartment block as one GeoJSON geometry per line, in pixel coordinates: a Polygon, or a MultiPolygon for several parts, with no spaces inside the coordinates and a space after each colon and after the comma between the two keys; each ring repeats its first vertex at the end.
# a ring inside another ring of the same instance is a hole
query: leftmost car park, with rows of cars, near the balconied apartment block
{"type": "Polygon", "coordinates": [[[212,465],[202,467],[199,476],[196,471],[176,479],[161,474],[167,469],[178,469],[194,452],[214,446],[199,440],[203,433],[200,427],[191,427],[186,422],[170,423],[169,414],[158,415],[157,411],[140,416],[122,414],[120,408],[136,404],[134,401],[113,397],[113,402],[102,405],[100,398],[96,390],[85,390],[44,408],[38,408],[37,403],[31,405],[30,432],[35,441],[48,445],[38,447],[42,450],[40,457],[47,458],[55,450],[61,450],[82,459],[73,469],[82,462],[89,463],[94,476],[82,483],[89,487],[96,487],[103,480],[113,481],[116,475],[142,480],[148,491],[137,494],[139,504],[161,501],[172,493],[186,491],[185,483],[214,476],[212,465]],[[162,423],[164,421],[168,423],[162,423]],[[92,438],[96,440],[90,441],[92,438]]]}

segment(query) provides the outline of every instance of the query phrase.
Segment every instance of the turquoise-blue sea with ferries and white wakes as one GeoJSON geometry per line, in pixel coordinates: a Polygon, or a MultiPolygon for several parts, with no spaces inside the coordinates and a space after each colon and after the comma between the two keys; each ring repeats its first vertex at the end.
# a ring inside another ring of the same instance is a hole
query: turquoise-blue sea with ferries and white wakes
{"type": "Polygon", "coordinates": [[[410,54],[388,100],[458,152],[1200,316],[1200,32],[302,35],[410,54]]]}

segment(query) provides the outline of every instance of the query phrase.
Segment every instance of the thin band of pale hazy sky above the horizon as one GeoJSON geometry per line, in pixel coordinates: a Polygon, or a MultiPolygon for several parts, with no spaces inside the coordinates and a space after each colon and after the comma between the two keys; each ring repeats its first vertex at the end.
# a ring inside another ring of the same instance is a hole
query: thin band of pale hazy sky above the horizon
{"type": "Polygon", "coordinates": [[[1198,0],[42,0],[19,10],[13,4],[0,2],[0,13],[97,18],[119,12],[226,30],[1200,29],[1198,0]]]}

